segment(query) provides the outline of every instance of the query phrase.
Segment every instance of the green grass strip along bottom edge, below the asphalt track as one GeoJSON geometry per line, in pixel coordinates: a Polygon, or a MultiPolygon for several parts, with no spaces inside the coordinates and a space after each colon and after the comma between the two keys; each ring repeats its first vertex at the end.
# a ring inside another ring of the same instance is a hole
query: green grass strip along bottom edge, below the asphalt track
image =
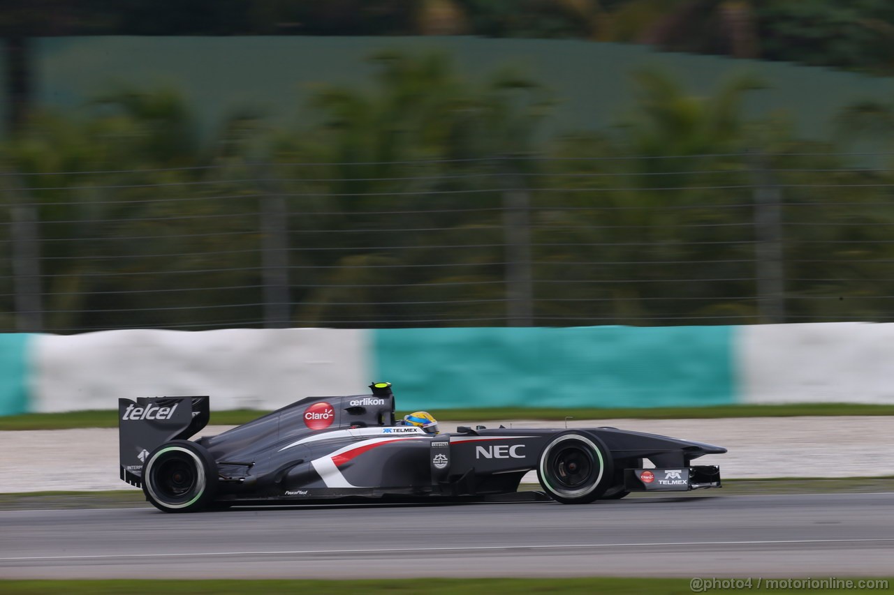
{"type": "MultiPolygon", "coordinates": [[[[437,575],[435,571],[433,577],[437,575]]],[[[711,579],[707,579],[710,581],[711,579]]],[[[840,585],[848,579],[838,579],[840,585]]],[[[853,593],[855,585],[849,590],[823,589],[822,593],[853,593]]],[[[869,579],[874,584],[891,585],[891,579],[869,579]],[[887,581],[887,583],[884,583],[887,581]]],[[[698,592],[729,592],[718,580],[718,589],[699,589],[698,592]]],[[[763,582],[763,581],[762,581],[763,582]]],[[[789,589],[763,589],[758,586],[756,578],[751,579],[749,593],[796,592],[789,589]]],[[[342,593],[400,593],[402,595],[464,595],[471,591],[481,591],[502,595],[516,593],[566,593],[569,595],[592,593],[616,593],[618,595],[638,594],[654,595],[666,593],[670,595],[693,592],[687,578],[549,578],[549,579],[448,579],[426,578],[416,580],[365,580],[365,581],[0,581],[0,591],[6,595],[37,595],[47,593],[58,595],[231,595],[235,593],[265,593],[266,595],[292,595],[293,593],[315,593],[316,595],[340,595],[342,593]]],[[[738,589],[736,590],[738,591],[738,589]]],[[[887,591],[887,589],[885,590],[887,591]]],[[[808,592],[808,591],[797,591],[808,592]]],[[[884,591],[876,591],[884,592],[884,591]]]]}

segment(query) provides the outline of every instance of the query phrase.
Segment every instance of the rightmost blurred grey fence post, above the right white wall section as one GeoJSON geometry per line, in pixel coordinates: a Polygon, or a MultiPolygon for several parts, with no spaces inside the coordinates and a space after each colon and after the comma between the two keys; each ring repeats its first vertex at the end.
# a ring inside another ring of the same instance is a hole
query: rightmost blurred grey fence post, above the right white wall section
{"type": "Polygon", "coordinates": [[[785,321],[785,271],[782,254],[782,195],[763,153],[753,155],[755,276],[762,323],[785,321]]]}

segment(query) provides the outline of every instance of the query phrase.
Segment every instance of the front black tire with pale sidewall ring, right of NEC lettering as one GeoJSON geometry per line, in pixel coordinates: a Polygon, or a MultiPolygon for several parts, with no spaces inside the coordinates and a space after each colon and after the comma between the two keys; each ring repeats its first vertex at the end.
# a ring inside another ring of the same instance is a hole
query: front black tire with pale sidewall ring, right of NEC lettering
{"type": "Polygon", "coordinates": [[[614,468],[602,440],[586,432],[562,432],[537,461],[537,479],[562,504],[588,504],[611,487],[614,468]]]}

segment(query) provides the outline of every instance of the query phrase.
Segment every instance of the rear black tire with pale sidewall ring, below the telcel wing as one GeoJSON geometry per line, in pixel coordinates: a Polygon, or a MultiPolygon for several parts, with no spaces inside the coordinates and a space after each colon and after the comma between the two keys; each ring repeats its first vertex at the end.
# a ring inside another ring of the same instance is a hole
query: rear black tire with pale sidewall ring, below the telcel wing
{"type": "Polygon", "coordinates": [[[217,493],[217,464],[190,440],[172,440],[149,453],[143,465],[143,493],[166,513],[196,512],[217,493]]]}

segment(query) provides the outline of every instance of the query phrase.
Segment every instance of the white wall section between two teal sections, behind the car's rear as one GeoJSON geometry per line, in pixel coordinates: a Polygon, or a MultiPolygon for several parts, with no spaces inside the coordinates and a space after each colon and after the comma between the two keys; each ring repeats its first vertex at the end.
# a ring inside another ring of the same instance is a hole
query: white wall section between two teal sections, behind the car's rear
{"type": "Polygon", "coordinates": [[[367,331],[232,329],[41,335],[31,411],[114,409],[119,397],[210,395],[212,409],[271,409],[313,395],[362,393],[367,331]]]}

